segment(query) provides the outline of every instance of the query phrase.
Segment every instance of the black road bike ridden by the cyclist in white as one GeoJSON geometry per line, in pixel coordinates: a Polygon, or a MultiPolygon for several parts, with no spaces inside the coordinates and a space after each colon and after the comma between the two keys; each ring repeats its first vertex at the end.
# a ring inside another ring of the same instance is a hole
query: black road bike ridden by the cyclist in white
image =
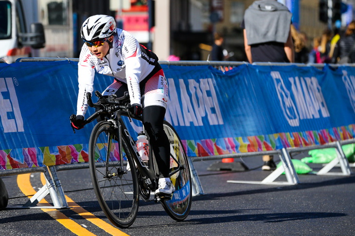
{"type": "MultiPolygon", "coordinates": [[[[93,189],[107,219],[120,228],[132,225],[141,196],[146,202],[160,202],[172,219],[185,220],[192,203],[192,181],[188,158],[173,126],[164,121],[164,131],[170,141],[169,176],[176,190],[169,196],[157,196],[159,170],[153,149],[147,150],[149,160],[143,161],[122,120],[122,116],[127,116],[130,122],[131,119],[142,122],[142,116],[134,116],[128,111],[128,93],[120,98],[114,94],[106,98],[98,91],[95,94],[100,102],[93,103],[91,94],[87,93],[88,104],[98,110],[84,122],[90,123],[98,116],[106,117],[91,132],[89,168],[93,189]]],[[[73,119],[75,115],[71,115],[71,121],[73,119]]]]}

